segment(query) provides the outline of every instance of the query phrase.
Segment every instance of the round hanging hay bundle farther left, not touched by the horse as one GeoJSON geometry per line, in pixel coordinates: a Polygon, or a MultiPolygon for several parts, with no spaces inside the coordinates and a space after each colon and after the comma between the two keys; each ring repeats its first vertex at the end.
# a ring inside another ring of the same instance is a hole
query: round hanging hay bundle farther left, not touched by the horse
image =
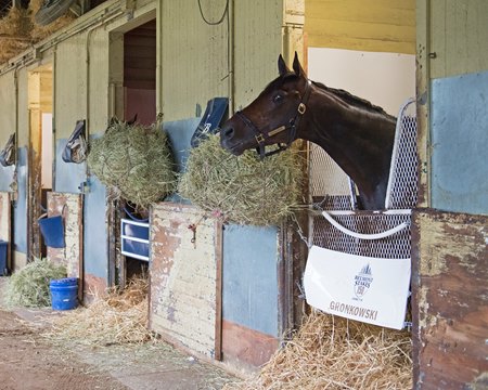
{"type": "Polygon", "coordinates": [[[142,208],[175,190],[172,155],[158,125],[114,121],[103,136],[91,141],[87,164],[117,197],[142,208]]]}

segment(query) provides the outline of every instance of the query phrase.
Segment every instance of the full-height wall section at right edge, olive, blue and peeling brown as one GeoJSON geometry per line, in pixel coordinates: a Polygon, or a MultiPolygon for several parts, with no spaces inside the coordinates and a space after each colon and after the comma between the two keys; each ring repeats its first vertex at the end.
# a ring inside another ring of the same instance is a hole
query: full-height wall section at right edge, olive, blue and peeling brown
{"type": "Polygon", "coordinates": [[[415,389],[486,389],[488,4],[418,3],[415,389]]]}

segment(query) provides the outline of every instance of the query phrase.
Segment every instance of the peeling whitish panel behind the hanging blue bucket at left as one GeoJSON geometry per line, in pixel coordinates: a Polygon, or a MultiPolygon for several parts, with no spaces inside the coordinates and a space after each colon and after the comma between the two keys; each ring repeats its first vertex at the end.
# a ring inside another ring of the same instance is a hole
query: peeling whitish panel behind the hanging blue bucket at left
{"type": "Polygon", "coordinates": [[[48,259],[65,264],[68,277],[82,276],[82,206],[81,195],[48,193],[48,216],[63,216],[64,248],[48,247],[48,259]]]}

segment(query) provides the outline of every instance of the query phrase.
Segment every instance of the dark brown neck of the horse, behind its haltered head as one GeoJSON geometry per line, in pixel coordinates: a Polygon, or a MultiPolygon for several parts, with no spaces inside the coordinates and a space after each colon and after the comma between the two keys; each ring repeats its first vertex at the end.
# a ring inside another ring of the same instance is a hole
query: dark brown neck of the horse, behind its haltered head
{"type": "Polygon", "coordinates": [[[298,136],[321,146],[355,181],[365,209],[384,208],[394,119],[351,106],[329,92],[318,96],[310,99],[309,117],[298,136]]]}

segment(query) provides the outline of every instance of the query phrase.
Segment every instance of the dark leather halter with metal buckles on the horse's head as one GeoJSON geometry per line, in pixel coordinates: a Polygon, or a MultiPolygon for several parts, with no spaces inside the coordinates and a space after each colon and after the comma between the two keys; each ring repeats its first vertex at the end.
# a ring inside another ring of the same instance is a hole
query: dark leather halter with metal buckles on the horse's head
{"type": "Polygon", "coordinates": [[[244,122],[246,127],[248,127],[253,132],[255,133],[254,138],[258,144],[256,150],[259,153],[259,157],[262,159],[267,156],[271,156],[273,154],[283,152],[288,148],[288,146],[292,144],[293,141],[295,141],[296,133],[298,131],[298,126],[300,123],[300,119],[304,116],[305,112],[307,110],[307,103],[308,98],[310,96],[311,91],[311,81],[307,79],[307,83],[305,86],[305,93],[301,96],[301,101],[298,104],[296,108],[295,117],[290,119],[287,125],[282,125],[273,130],[270,130],[268,132],[265,132],[260,130],[256,125],[253,123],[253,121],[247,118],[242,110],[236,112],[235,115],[241,118],[241,120],[244,122]],[[278,150],[274,150],[272,152],[266,152],[266,141],[269,140],[271,136],[274,136],[283,131],[286,131],[291,129],[290,131],[290,139],[286,144],[278,143],[278,150]]]}

